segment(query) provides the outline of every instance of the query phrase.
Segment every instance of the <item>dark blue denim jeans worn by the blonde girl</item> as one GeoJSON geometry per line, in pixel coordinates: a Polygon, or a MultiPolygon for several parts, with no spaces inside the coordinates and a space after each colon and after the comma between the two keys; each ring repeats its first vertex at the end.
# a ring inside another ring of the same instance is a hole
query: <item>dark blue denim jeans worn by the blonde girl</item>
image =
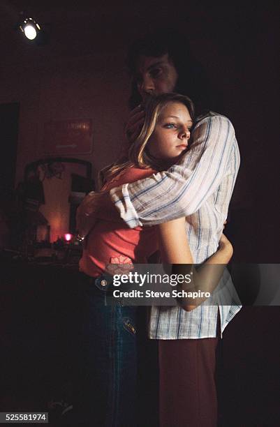
{"type": "Polygon", "coordinates": [[[105,306],[108,291],[81,277],[77,421],[84,426],[131,427],[137,404],[137,307],[105,306]]]}

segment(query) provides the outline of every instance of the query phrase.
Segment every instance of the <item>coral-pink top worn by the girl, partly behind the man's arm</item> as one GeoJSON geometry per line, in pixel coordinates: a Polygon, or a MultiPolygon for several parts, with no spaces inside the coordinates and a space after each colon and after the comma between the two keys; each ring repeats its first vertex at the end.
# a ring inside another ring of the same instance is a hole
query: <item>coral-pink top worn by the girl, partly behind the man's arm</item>
{"type": "MultiPolygon", "coordinates": [[[[156,173],[152,169],[128,167],[105,184],[103,189],[110,190],[124,183],[131,183],[156,173]]],[[[87,238],[87,248],[82,252],[80,271],[91,277],[99,276],[108,264],[146,264],[147,257],[158,248],[156,227],[129,228],[126,223],[98,220],[87,238]]],[[[106,267],[112,274],[115,267],[106,267]]]]}

